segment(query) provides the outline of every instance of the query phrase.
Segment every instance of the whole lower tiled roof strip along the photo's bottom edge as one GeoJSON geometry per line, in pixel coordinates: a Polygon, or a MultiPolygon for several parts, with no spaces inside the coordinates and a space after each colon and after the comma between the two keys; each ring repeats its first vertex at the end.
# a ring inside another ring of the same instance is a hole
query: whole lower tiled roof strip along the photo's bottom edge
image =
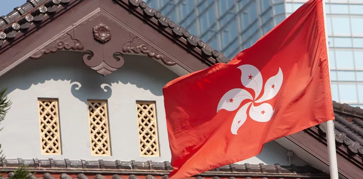
{"type": "MultiPolygon", "coordinates": [[[[169,162],[123,162],[118,160],[74,161],[68,159],[23,160],[21,158],[18,158],[2,160],[0,163],[0,173],[13,172],[21,164],[28,166],[28,168],[32,172],[36,173],[37,177],[40,177],[39,175],[42,175],[44,179],[54,179],[52,178],[54,174],[63,176],[63,178],[61,177],[61,179],[69,179],[67,178],[68,175],[78,175],[80,173],[88,176],[95,175],[95,179],[104,179],[101,175],[114,175],[112,179],[119,179],[117,178],[119,177],[118,175],[126,175],[129,179],[138,179],[136,176],[144,176],[143,178],[145,178],[145,176],[149,175],[149,179],[154,179],[153,176],[159,176],[159,178],[164,176],[165,178],[167,178],[166,176],[173,170],[169,162]]],[[[85,175],[82,174],[78,175],[78,179],[88,179],[85,178],[85,175]]],[[[9,173],[9,175],[9,177],[11,177],[12,173],[9,173]]],[[[201,177],[213,177],[213,179],[219,179],[219,177],[326,178],[328,175],[310,166],[280,166],[278,164],[232,164],[205,172],[198,176],[199,179],[202,179],[201,177]]],[[[148,179],[148,177],[146,178],[148,179]]]]}

